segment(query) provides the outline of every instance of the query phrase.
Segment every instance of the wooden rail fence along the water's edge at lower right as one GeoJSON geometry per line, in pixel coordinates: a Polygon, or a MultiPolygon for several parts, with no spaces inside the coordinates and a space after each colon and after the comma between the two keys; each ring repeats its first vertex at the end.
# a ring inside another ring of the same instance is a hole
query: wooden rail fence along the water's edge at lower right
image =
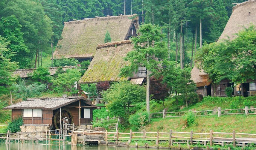
{"type": "Polygon", "coordinates": [[[204,146],[210,144],[212,145],[230,145],[233,144],[235,146],[248,146],[250,143],[256,143],[256,134],[250,133],[236,133],[235,130],[233,132],[213,132],[210,130],[209,133],[196,133],[193,131],[190,132],[175,132],[170,130],[170,132],[146,132],[143,130],[142,132],[133,132],[130,130],[130,133],[123,132],[108,132],[105,131],[105,143],[108,144],[108,141],[116,141],[118,142],[120,139],[128,140],[128,144],[131,140],[148,140],[155,141],[155,145],[158,146],[159,142],[169,142],[169,146],[173,144],[203,144],[204,146]],[[178,135],[177,135],[178,134],[178,135]],[[110,136],[111,135],[111,136],[110,136]],[[218,135],[230,136],[223,137],[218,135]],[[199,136],[199,137],[198,137],[199,136]],[[202,137],[205,136],[205,137],[202,137]],[[240,136],[240,138],[239,138],[240,136]],[[251,136],[255,138],[251,138],[251,136]]]}

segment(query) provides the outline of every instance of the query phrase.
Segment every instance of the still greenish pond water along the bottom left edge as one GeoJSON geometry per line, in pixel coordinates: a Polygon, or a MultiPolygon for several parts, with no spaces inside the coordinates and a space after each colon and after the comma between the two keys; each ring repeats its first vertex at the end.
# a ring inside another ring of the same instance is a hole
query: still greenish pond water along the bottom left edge
{"type": "MultiPolygon", "coordinates": [[[[32,142],[18,142],[12,141],[9,144],[5,142],[0,142],[0,150],[145,150],[145,148],[134,148],[134,147],[116,147],[116,146],[105,146],[105,145],[70,145],[65,144],[64,146],[59,146],[58,143],[56,145],[42,145],[32,144],[32,142]]],[[[153,150],[153,148],[151,148],[153,150]]]]}

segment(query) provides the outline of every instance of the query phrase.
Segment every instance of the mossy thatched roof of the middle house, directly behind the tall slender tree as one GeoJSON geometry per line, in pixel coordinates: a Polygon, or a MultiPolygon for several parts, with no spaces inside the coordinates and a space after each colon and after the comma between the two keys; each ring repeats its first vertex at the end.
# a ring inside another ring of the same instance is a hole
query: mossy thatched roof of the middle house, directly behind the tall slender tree
{"type": "Polygon", "coordinates": [[[120,69],[128,63],[123,60],[123,57],[132,51],[133,47],[130,40],[99,44],[90,66],[79,83],[126,80],[118,75],[120,69]]]}

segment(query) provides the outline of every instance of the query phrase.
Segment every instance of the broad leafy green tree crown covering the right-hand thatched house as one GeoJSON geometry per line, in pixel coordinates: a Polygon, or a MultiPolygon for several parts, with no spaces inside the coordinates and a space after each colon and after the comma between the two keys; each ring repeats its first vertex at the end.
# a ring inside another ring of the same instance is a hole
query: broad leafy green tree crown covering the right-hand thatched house
{"type": "Polygon", "coordinates": [[[250,26],[236,35],[233,40],[205,44],[199,51],[198,66],[215,84],[224,79],[237,84],[256,79],[256,28],[250,26]]]}

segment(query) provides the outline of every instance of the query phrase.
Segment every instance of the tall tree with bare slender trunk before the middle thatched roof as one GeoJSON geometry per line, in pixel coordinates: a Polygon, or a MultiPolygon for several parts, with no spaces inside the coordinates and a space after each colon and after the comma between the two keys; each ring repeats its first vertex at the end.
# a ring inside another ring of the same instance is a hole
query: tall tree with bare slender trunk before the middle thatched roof
{"type": "Polygon", "coordinates": [[[144,24],[139,28],[139,36],[133,37],[134,50],[128,52],[125,61],[129,61],[130,65],[121,69],[120,75],[131,77],[132,73],[138,71],[140,66],[147,69],[146,83],[146,110],[149,113],[149,74],[157,74],[162,68],[161,63],[164,59],[168,59],[168,49],[165,42],[161,41],[164,37],[161,34],[160,27],[144,24]]]}

